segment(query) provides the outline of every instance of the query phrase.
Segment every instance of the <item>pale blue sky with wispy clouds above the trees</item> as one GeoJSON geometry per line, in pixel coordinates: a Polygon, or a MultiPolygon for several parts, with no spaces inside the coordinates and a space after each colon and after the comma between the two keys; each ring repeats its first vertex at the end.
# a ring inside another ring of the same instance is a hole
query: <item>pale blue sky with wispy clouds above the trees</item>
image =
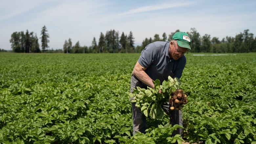
{"type": "MultiPolygon", "coordinates": [[[[41,37],[46,26],[48,49],[63,49],[65,40],[90,46],[100,32],[129,34],[135,45],[145,38],[176,30],[220,40],[249,29],[256,35],[255,0],[0,0],[0,49],[11,50],[11,34],[33,31],[41,37]]],[[[40,39],[39,39],[39,45],[40,39]]]]}

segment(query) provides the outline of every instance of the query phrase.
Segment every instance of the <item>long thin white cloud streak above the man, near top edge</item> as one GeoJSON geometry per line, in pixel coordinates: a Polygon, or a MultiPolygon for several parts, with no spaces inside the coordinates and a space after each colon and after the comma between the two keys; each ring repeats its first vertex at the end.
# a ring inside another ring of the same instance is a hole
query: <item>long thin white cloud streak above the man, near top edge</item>
{"type": "Polygon", "coordinates": [[[136,9],[131,9],[131,10],[121,13],[120,15],[129,15],[129,14],[148,12],[148,11],[154,11],[154,10],[164,10],[164,9],[169,9],[169,8],[188,6],[191,4],[193,4],[193,3],[192,2],[183,2],[183,3],[178,2],[178,3],[164,3],[164,4],[158,4],[158,5],[150,5],[150,6],[139,7],[136,9]]]}

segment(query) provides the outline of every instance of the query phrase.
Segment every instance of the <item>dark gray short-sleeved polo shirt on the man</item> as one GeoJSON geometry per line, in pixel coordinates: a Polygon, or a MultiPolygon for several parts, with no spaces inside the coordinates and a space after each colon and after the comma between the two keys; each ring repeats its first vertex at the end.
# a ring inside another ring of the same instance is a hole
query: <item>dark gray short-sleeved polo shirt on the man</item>
{"type": "Polygon", "coordinates": [[[183,55],[178,60],[169,57],[170,42],[153,42],[141,51],[139,64],[146,68],[145,72],[152,80],[159,79],[162,83],[170,75],[172,78],[181,78],[186,65],[186,57],[183,55]]]}

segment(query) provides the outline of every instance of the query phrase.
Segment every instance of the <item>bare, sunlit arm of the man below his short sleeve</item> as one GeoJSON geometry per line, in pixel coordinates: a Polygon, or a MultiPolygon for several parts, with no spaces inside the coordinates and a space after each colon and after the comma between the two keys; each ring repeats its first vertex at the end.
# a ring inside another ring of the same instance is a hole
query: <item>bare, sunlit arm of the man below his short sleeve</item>
{"type": "Polygon", "coordinates": [[[147,75],[145,72],[146,68],[142,67],[139,62],[137,61],[136,65],[133,69],[133,75],[135,75],[141,82],[143,82],[145,85],[154,88],[155,85],[153,84],[152,79],[147,75]]]}

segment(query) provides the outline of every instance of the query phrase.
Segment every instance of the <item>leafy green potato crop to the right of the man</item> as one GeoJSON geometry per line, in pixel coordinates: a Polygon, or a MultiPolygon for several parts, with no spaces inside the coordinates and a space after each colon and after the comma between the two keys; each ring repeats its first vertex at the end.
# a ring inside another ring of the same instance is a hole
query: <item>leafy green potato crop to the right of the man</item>
{"type": "Polygon", "coordinates": [[[182,110],[188,141],[255,141],[256,65],[253,56],[255,53],[187,57],[189,64],[183,71],[182,86],[189,97],[182,110]],[[202,63],[202,59],[206,63],[202,63]]]}

